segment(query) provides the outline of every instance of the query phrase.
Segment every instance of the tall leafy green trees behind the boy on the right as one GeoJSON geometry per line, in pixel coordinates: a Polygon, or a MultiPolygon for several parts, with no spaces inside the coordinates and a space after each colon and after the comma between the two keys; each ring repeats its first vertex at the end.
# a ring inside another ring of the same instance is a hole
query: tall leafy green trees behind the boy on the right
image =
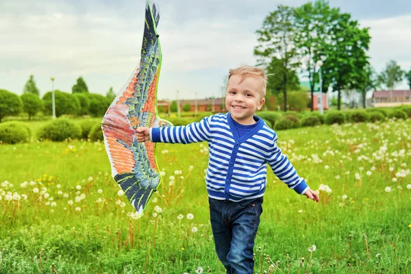
{"type": "Polygon", "coordinates": [[[342,90],[360,92],[365,108],[367,90],[393,89],[404,77],[411,89],[411,70],[402,71],[395,61],[388,62],[381,73],[375,72],[367,55],[371,41],[369,28],[360,27],[351,14],[332,8],[325,0],[296,8],[277,5],[256,34],[258,45],[253,52],[258,57],[258,66],[275,75],[269,77],[267,91],[282,95],[284,111],[288,92],[299,89],[298,74],[308,77],[312,109],[314,84],[319,82],[320,69],[323,90],[326,92],[332,86],[338,92],[338,110],[342,90]]]}

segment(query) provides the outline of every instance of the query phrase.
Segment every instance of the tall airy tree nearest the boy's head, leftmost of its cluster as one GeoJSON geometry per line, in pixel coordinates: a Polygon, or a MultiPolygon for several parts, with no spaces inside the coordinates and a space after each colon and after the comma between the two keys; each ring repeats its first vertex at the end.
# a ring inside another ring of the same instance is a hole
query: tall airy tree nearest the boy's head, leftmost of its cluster
{"type": "Polygon", "coordinates": [[[290,81],[290,71],[299,66],[297,49],[295,47],[295,18],[292,8],[278,5],[275,12],[271,12],[257,30],[260,45],[254,48],[254,55],[260,57],[259,64],[268,67],[272,62],[281,62],[283,69],[276,78],[281,82],[280,89],[284,95],[284,111],[287,110],[287,87],[290,81]],[[275,61],[275,58],[277,61],[275,61]]]}

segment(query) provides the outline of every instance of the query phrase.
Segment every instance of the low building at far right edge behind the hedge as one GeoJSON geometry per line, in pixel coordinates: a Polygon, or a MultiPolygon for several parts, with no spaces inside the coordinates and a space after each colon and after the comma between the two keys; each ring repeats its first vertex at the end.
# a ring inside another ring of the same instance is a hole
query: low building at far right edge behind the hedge
{"type": "Polygon", "coordinates": [[[411,105],[411,90],[375,90],[371,105],[375,108],[411,105]]]}

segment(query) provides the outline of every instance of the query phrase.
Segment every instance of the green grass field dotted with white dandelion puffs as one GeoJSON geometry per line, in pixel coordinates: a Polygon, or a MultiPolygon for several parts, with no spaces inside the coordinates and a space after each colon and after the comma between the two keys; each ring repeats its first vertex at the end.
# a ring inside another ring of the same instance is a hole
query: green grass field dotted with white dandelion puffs
{"type": "MultiPolygon", "coordinates": [[[[411,120],[278,135],[321,201],[269,172],[255,272],[410,273],[411,120]]],[[[158,144],[163,181],[136,220],[103,143],[0,145],[0,273],[224,273],[203,182],[207,153],[206,143],[158,144]]]]}

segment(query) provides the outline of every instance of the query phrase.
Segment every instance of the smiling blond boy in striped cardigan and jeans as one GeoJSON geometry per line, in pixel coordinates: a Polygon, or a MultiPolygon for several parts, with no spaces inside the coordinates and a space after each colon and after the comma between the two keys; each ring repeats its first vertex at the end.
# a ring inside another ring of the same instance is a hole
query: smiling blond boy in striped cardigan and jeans
{"type": "Polygon", "coordinates": [[[215,249],[227,273],[253,273],[253,247],[266,188],[266,163],[275,175],[308,199],[319,201],[277,147],[277,134],[255,116],[265,99],[262,69],[241,66],[229,71],[225,108],[185,127],[136,129],[139,142],[208,141],[206,175],[215,249]]]}

